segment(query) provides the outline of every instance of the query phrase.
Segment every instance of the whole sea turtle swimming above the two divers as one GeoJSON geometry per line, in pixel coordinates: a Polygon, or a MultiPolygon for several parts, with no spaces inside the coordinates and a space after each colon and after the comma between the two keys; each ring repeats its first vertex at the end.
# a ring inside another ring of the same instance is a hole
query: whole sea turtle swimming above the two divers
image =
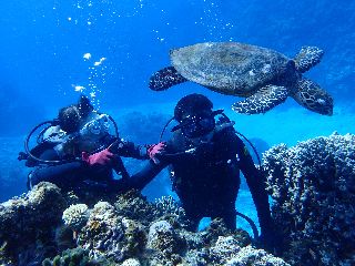
{"type": "Polygon", "coordinates": [[[302,74],[321,61],[323,51],[303,47],[290,59],[271,49],[239,42],[205,42],[173,49],[173,66],[155,72],[149,86],[166,90],[185,81],[212,91],[246,98],[232,110],[237,113],[265,113],[287,96],[320,114],[333,114],[333,99],[302,74]]]}

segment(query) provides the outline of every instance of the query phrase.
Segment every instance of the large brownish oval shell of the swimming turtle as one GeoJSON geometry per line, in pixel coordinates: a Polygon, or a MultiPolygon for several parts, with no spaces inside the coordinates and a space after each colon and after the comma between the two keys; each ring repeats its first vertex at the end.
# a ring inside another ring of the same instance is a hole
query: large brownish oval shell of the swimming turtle
{"type": "Polygon", "coordinates": [[[205,42],[174,49],[172,65],[185,79],[223,94],[250,96],[285,73],[288,58],[239,42],[205,42]]]}

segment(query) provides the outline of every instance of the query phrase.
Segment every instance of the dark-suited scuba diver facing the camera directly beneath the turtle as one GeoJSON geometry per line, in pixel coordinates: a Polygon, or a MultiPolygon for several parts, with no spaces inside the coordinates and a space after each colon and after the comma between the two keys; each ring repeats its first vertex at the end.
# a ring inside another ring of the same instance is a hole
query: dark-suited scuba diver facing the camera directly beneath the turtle
{"type": "Polygon", "coordinates": [[[237,136],[234,122],[223,114],[223,110],[212,109],[213,103],[202,94],[182,98],[172,119],[179,123],[172,129],[172,139],[150,149],[152,160],[140,173],[126,180],[126,187],[142,190],[170,165],[173,190],[192,222],[192,229],[197,229],[203,217],[220,217],[230,229],[235,229],[241,170],[257,211],[258,242],[272,250],[275,235],[263,174],[237,136]],[[216,120],[219,115],[221,117],[216,120]]]}

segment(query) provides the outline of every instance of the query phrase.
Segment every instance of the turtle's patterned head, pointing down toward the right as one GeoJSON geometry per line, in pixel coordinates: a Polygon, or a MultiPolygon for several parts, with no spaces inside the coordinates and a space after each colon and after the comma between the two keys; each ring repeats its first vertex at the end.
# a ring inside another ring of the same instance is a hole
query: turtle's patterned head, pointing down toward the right
{"type": "Polygon", "coordinates": [[[320,114],[333,114],[333,98],[317,83],[303,78],[297,81],[296,89],[291,96],[302,106],[320,114]]]}

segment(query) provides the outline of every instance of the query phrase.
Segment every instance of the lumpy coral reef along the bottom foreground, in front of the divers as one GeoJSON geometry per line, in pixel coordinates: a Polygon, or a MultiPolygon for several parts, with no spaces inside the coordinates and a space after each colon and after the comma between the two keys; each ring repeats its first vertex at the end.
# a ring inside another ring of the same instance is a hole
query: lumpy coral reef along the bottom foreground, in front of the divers
{"type": "Polygon", "coordinates": [[[98,202],[92,208],[77,203],[65,209],[67,200],[72,202],[72,195],[62,196],[55,185],[40,183],[28,195],[2,204],[0,262],[20,266],[287,265],[282,259],[283,264],[273,263],[276,258],[263,250],[241,253],[251,244],[247,233],[229,231],[222,219],[212,221],[204,231],[189,232],[184,211],[171,197],[152,204],[131,191],[114,203],[98,202]]]}

